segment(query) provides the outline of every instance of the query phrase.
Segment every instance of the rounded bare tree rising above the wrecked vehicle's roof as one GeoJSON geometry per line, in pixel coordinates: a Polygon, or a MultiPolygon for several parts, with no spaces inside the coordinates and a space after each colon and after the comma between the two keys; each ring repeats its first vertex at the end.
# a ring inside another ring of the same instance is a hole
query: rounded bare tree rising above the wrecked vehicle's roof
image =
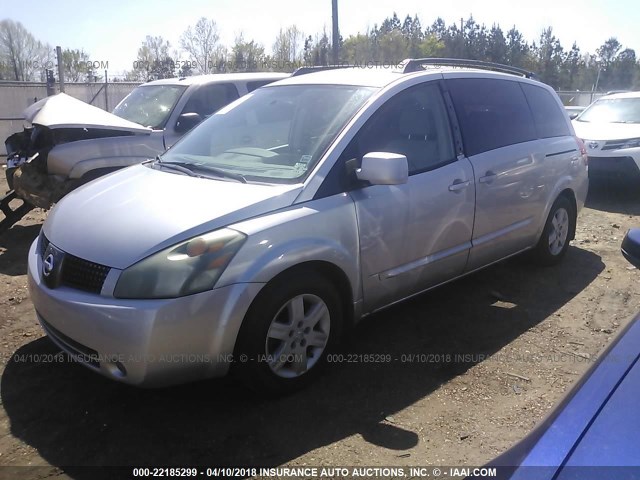
{"type": "Polygon", "coordinates": [[[201,73],[209,73],[219,62],[221,54],[218,26],[212,19],[200,18],[195,27],[189,26],[180,37],[180,46],[195,61],[201,73]]]}

